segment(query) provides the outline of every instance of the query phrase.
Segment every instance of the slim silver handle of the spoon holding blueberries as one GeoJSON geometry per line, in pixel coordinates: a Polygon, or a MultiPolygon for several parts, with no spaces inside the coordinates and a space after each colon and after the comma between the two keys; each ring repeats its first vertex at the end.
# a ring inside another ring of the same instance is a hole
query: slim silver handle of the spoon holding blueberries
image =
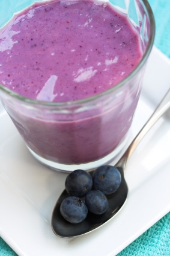
{"type": "Polygon", "coordinates": [[[142,127],[139,131],[138,135],[133,139],[130,146],[127,148],[124,155],[121,157],[120,161],[117,163],[117,167],[122,167],[123,169],[126,167],[127,160],[132,155],[133,151],[138,146],[141,139],[147,134],[147,132],[151,129],[151,127],[156,123],[157,120],[168,110],[170,107],[170,89],[166,92],[165,96],[163,97],[162,101],[160,101],[159,105],[157,106],[156,110],[154,110],[151,117],[148,119],[147,123],[142,127]]]}

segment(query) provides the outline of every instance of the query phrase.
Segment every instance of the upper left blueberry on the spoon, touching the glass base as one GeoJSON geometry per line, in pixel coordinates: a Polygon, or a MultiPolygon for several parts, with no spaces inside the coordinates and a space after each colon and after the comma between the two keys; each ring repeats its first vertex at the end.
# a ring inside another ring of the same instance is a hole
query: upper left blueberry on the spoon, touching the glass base
{"type": "Polygon", "coordinates": [[[70,196],[83,197],[91,190],[93,179],[87,171],[75,170],[65,179],[65,190],[70,196]]]}

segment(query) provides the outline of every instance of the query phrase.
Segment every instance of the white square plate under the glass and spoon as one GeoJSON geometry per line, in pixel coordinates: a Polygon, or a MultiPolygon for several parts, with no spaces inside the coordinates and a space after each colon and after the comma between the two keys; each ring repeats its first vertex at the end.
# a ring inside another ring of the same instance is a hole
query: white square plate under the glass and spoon
{"type": "MultiPolygon", "coordinates": [[[[132,136],[141,129],[170,86],[170,60],[153,48],[132,136]]],[[[114,219],[82,237],[56,237],[50,217],[65,175],[28,152],[0,106],[0,235],[20,256],[116,255],[170,211],[170,115],[145,136],[126,168],[129,197],[114,219]]]]}

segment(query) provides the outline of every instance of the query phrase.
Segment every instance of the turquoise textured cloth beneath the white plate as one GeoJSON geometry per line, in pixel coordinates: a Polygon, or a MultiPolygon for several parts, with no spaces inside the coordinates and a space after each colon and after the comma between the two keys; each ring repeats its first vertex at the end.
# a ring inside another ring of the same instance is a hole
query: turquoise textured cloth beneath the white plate
{"type": "MultiPolygon", "coordinates": [[[[170,0],[148,0],[148,2],[156,20],[154,45],[170,58],[170,0]]],[[[0,237],[0,256],[16,255],[0,237]]],[[[170,213],[151,226],[117,256],[170,256],[170,213]]]]}

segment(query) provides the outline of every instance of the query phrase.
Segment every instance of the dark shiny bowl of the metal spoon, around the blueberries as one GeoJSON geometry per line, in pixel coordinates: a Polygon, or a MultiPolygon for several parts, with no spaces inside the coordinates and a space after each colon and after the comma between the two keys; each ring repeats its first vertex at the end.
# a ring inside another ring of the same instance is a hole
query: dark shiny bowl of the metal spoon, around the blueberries
{"type": "MultiPolygon", "coordinates": [[[[126,181],[124,179],[123,169],[119,168],[119,170],[121,173],[120,187],[115,193],[106,196],[109,202],[109,209],[104,214],[101,215],[96,215],[88,212],[88,215],[86,219],[83,220],[83,222],[72,224],[67,222],[67,220],[65,220],[62,217],[59,208],[62,203],[62,200],[68,197],[67,191],[64,190],[61,196],[59,196],[59,199],[56,202],[56,205],[52,213],[53,232],[59,237],[77,237],[79,235],[93,231],[96,228],[99,228],[99,226],[103,225],[105,222],[111,219],[124,205],[124,202],[126,201],[128,194],[128,188],[126,181]]],[[[89,173],[93,175],[93,171],[90,171],[89,173]]]]}

